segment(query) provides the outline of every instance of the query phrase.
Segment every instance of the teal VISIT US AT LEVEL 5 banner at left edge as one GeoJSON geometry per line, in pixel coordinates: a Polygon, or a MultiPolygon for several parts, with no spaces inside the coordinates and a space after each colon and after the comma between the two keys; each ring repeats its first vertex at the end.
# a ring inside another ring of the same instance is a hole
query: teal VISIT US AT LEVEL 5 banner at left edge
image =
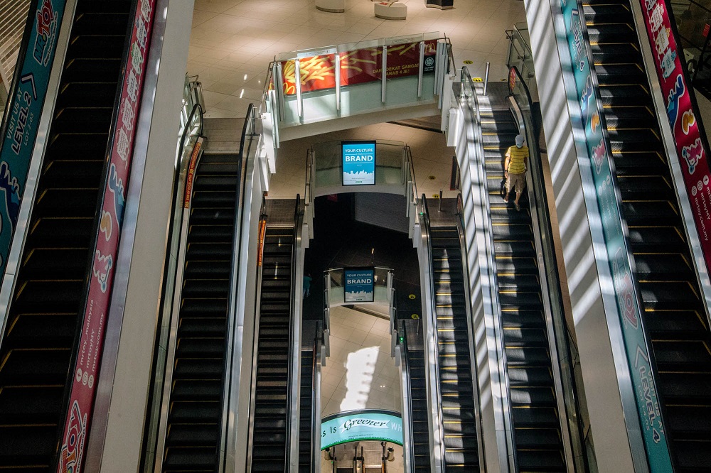
{"type": "Polygon", "coordinates": [[[0,200],[0,274],[5,272],[20,213],[65,3],[65,0],[36,2],[26,50],[18,58],[16,80],[8,97],[0,148],[0,195],[4,197],[0,200]]]}

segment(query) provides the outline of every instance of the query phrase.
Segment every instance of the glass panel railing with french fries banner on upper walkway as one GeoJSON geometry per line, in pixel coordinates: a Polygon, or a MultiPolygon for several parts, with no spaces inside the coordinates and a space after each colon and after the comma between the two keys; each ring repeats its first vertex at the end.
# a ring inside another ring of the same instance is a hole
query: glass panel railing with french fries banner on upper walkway
{"type": "Polygon", "coordinates": [[[282,53],[272,64],[280,126],[433,103],[446,48],[424,33],[282,53]]]}

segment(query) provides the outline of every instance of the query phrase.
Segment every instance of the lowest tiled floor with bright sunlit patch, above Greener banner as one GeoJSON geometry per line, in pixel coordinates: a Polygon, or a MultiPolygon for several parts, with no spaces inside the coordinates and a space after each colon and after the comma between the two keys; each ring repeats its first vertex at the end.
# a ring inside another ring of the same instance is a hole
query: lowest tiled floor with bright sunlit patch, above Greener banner
{"type": "Polygon", "coordinates": [[[390,325],[384,318],[332,308],[331,357],[321,374],[321,417],[354,409],[402,411],[390,325]]]}

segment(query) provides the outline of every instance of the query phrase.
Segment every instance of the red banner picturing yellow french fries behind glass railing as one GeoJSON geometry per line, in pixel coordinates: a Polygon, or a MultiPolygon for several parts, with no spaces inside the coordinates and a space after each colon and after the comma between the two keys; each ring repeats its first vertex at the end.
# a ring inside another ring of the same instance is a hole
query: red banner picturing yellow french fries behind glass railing
{"type": "MultiPolygon", "coordinates": [[[[437,40],[424,41],[424,72],[434,71],[437,40]]],[[[341,55],[341,86],[382,80],[383,48],[363,48],[341,55]]],[[[295,60],[282,61],[284,94],[296,94],[295,60]]],[[[301,92],[336,87],[336,55],[299,59],[301,92]]],[[[387,79],[419,73],[419,42],[387,46],[387,79]]]]}

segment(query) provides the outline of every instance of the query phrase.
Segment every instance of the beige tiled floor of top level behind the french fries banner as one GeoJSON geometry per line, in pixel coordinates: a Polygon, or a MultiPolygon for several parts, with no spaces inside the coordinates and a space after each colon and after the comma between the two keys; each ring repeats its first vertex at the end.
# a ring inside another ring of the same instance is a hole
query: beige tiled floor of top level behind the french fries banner
{"type": "Polygon", "coordinates": [[[269,62],[279,53],[360,40],[438,31],[451,38],[456,67],[464,60],[472,77],[506,78],[504,31],[525,21],[520,0],[456,0],[454,8],[426,8],[401,0],[407,19],[375,18],[370,0],[346,0],[345,13],[316,10],[307,0],[196,0],[188,74],[203,83],[206,117],[244,117],[259,103],[269,62]]]}

